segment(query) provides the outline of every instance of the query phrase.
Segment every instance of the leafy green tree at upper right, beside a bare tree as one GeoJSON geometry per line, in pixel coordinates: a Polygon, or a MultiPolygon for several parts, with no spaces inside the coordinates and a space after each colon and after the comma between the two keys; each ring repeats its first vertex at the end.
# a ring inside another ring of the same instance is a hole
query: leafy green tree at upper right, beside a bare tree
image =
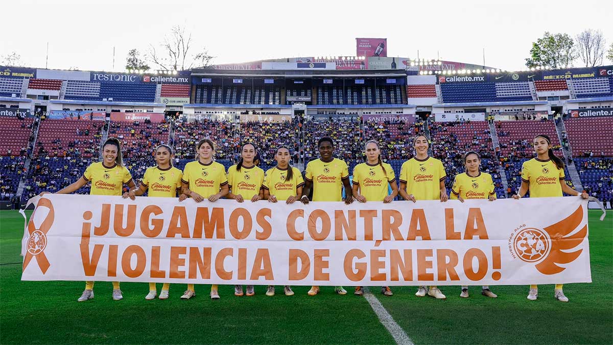
{"type": "Polygon", "coordinates": [[[526,66],[532,68],[547,66],[548,68],[568,68],[577,58],[574,41],[568,34],[550,34],[546,31],[543,37],[532,42],[530,58],[526,66]]]}

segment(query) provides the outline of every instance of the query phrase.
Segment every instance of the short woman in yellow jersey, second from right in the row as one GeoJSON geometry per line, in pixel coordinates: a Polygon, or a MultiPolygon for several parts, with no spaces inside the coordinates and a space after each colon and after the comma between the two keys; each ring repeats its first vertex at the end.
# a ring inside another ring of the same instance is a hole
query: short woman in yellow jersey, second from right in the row
{"type": "MultiPolygon", "coordinates": [[[[451,187],[451,199],[460,200],[462,203],[465,199],[496,200],[492,175],[479,170],[479,166],[481,166],[481,156],[479,156],[479,153],[474,151],[466,152],[464,155],[464,166],[466,171],[455,176],[454,184],[451,187]]],[[[498,297],[490,291],[489,285],[481,287],[481,295],[490,298],[498,297]]],[[[462,286],[460,297],[468,298],[468,286],[462,286]]]]}

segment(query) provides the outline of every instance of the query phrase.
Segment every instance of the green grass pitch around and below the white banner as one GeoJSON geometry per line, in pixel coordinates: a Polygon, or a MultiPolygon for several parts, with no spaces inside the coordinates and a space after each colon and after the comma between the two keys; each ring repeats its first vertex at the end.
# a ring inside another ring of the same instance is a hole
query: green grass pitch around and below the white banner
{"type": "MultiPolygon", "coordinates": [[[[554,300],[553,285],[539,286],[528,301],[527,286],[492,286],[497,299],[459,297],[460,288],[441,287],[446,301],[414,297],[415,287],[395,287],[379,301],[416,344],[611,344],[613,343],[613,227],[590,211],[592,284],[568,284],[569,303],[554,300]]],[[[180,300],[185,285],[170,285],[168,300],[145,301],[146,283],[123,283],[124,299],[111,299],[110,282],[96,284],[96,298],[77,303],[83,282],[22,282],[23,218],[0,211],[0,344],[391,344],[363,297],[322,287],[308,297],[295,287],[275,297],[256,287],[254,297],[234,297],[220,286],[221,300],[180,300]]],[[[158,284],[158,292],[161,284],[158,284]]]]}

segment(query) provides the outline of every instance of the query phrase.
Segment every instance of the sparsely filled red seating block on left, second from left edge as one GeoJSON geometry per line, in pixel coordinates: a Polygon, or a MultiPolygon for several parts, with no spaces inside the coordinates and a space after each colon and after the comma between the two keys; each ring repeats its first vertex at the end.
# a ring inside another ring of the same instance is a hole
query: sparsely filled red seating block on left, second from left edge
{"type": "Polygon", "coordinates": [[[34,156],[97,158],[102,126],[102,121],[43,120],[34,156]]]}

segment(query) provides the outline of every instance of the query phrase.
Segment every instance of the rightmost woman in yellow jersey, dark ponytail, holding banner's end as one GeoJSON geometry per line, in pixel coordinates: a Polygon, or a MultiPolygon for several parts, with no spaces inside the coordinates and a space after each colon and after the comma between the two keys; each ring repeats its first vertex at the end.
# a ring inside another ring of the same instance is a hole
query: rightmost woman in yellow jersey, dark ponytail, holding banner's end
{"type": "MultiPolygon", "coordinates": [[[[522,186],[513,198],[519,200],[524,197],[528,190],[530,198],[543,198],[547,196],[562,196],[562,192],[568,195],[581,196],[584,199],[590,196],[587,193],[577,192],[566,184],[564,174],[564,162],[554,155],[551,149],[551,140],[544,134],[535,137],[533,142],[536,157],[525,161],[522,165],[522,186]],[[552,183],[551,181],[559,181],[552,183]]],[[[568,297],[562,291],[562,284],[555,284],[554,297],[561,302],[568,302],[568,297]]],[[[528,300],[538,298],[538,286],[530,285],[528,300]]]]}

